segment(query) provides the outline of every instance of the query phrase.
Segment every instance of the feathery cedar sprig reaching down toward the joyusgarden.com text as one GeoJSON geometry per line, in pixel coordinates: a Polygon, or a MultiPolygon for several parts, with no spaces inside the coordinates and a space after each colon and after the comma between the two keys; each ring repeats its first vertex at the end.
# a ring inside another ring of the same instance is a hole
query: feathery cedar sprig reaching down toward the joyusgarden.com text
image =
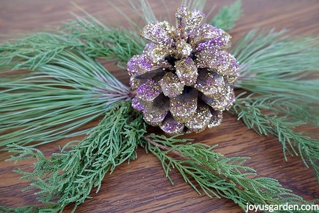
{"type": "Polygon", "coordinates": [[[156,134],[150,134],[143,139],[145,142],[142,145],[158,157],[170,181],[169,171],[177,168],[184,180],[198,193],[199,186],[209,197],[214,195],[218,198],[232,199],[243,210],[246,209],[247,203],[310,204],[293,194],[291,190],[283,188],[275,179],[249,178],[248,176],[256,173],[254,169],[242,165],[247,158],[226,158],[220,153],[213,152],[215,146],[210,147],[201,143],[185,144],[185,139],[176,140],[174,137],[167,138],[156,134]],[[170,152],[179,158],[171,157],[170,152]]]}

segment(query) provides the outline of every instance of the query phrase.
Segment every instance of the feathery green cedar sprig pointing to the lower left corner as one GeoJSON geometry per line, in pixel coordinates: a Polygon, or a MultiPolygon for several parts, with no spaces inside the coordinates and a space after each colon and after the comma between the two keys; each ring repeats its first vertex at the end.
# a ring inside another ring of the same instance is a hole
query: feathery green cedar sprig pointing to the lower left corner
{"type": "Polygon", "coordinates": [[[106,111],[105,118],[82,141],[69,142],[61,153],[47,159],[37,149],[11,145],[15,149],[10,152],[18,155],[10,160],[37,159],[32,172],[15,171],[23,175],[21,179],[32,182],[25,190],[39,189],[37,199],[48,204],[37,212],[62,211],[69,203],[74,203],[75,211],[89,198],[93,187],[99,191],[107,172],[136,158],[135,149],[145,128],[142,116],[132,112],[131,103],[120,101],[106,111]]]}

